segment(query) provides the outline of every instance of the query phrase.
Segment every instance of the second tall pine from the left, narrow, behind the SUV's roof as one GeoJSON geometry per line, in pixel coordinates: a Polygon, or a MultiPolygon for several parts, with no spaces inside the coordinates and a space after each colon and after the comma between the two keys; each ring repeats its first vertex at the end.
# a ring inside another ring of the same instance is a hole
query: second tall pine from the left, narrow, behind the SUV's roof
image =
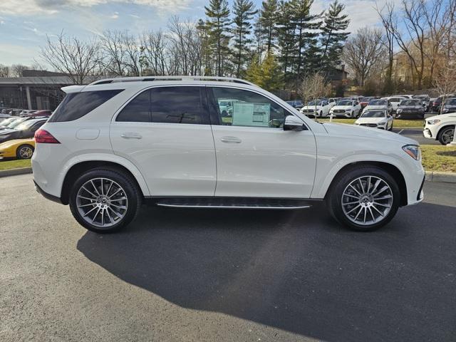
{"type": "Polygon", "coordinates": [[[233,5],[234,27],[232,29],[234,39],[233,63],[236,68],[236,77],[239,78],[246,59],[249,56],[249,44],[252,43],[250,33],[252,31],[252,18],[257,11],[250,0],[235,0],[233,5]]]}

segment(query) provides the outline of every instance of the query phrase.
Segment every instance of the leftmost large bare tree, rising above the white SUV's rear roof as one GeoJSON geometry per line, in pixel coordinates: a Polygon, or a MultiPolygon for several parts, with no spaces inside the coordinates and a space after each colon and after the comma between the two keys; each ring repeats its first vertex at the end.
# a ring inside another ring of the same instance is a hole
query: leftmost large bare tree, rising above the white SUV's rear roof
{"type": "Polygon", "coordinates": [[[100,75],[100,44],[96,38],[81,41],[61,32],[55,40],[47,36],[40,57],[60,73],[66,73],[75,84],[84,84],[87,76],[100,75]]]}

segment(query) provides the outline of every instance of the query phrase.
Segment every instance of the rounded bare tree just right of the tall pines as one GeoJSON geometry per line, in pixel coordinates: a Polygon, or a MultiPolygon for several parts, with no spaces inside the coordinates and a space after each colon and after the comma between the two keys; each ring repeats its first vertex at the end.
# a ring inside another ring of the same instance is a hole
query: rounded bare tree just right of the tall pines
{"type": "Polygon", "coordinates": [[[355,73],[358,84],[364,86],[371,71],[383,66],[386,53],[382,30],[364,27],[348,39],[343,49],[343,60],[355,73]]]}

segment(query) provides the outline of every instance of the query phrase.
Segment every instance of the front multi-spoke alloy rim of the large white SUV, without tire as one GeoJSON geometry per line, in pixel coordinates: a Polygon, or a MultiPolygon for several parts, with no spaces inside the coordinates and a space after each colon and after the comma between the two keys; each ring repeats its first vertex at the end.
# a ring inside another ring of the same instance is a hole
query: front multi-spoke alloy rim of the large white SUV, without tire
{"type": "Polygon", "coordinates": [[[393,191],[388,183],[379,177],[358,177],[343,190],[341,204],[347,219],[367,226],[388,216],[393,206],[393,191]]]}

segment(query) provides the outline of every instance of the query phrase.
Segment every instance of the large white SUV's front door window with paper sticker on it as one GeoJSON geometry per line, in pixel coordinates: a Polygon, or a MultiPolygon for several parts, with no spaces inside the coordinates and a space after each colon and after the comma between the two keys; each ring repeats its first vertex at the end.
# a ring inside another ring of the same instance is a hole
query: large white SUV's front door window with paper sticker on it
{"type": "Polygon", "coordinates": [[[212,88],[215,109],[222,125],[283,128],[285,118],[291,115],[269,98],[249,90],[212,88]],[[224,103],[231,101],[227,107],[224,103]]]}

